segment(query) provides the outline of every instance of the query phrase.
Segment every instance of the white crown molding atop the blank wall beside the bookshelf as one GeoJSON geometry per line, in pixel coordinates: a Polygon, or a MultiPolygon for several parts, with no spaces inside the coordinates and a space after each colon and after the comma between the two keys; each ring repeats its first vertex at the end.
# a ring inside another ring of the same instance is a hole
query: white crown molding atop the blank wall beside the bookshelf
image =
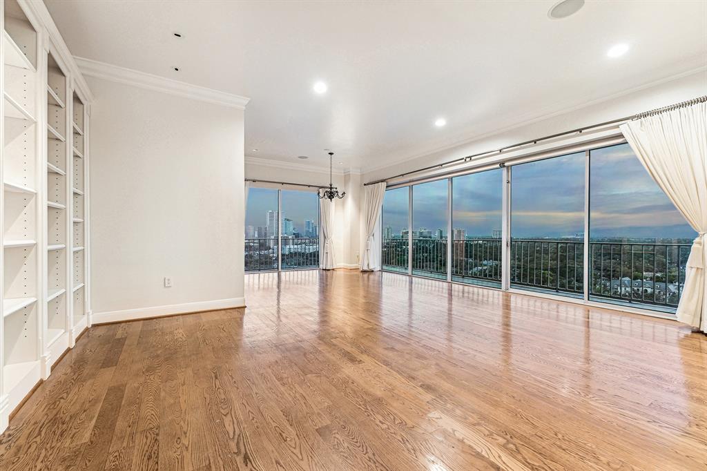
{"type": "Polygon", "coordinates": [[[127,69],[105,62],[98,62],[83,57],[74,56],[74,60],[81,69],[81,73],[85,76],[96,77],[117,83],[124,83],[147,90],[169,93],[183,98],[191,98],[192,100],[204,101],[206,103],[214,103],[215,105],[223,105],[245,110],[250,98],[245,98],[240,95],[233,95],[212,88],[192,85],[191,83],[180,82],[178,80],[167,79],[153,74],[127,69]]]}

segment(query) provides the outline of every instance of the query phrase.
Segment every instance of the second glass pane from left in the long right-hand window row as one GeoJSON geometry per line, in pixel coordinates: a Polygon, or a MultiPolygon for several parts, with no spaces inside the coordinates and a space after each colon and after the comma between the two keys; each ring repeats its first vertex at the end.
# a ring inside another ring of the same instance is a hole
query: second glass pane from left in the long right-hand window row
{"type": "Polygon", "coordinates": [[[448,180],[412,187],[412,273],[447,279],[448,180]]]}

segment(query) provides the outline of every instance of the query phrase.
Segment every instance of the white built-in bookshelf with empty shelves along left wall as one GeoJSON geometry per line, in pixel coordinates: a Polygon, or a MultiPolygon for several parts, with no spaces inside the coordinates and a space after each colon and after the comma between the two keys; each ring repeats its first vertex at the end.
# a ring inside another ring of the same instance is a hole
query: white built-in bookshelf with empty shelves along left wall
{"type": "Polygon", "coordinates": [[[1,432],[90,326],[90,92],[42,2],[0,3],[1,432]]]}

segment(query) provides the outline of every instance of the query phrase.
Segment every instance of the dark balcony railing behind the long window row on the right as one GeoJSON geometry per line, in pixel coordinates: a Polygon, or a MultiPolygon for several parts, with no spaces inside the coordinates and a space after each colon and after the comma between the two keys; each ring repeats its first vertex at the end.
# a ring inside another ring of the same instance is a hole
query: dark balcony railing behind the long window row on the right
{"type": "MultiPolygon", "coordinates": [[[[447,240],[414,239],[412,271],[437,278],[447,275],[447,240]]],[[[584,294],[583,240],[513,239],[511,286],[584,294]]],[[[589,243],[589,296],[619,303],[675,308],[685,279],[689,244],[589,243]]],[[[503,245],[499,238],[452,240],[451,275],[457,281],[500,284],[503,245]]],[[[408,240],[384,238],[382,267],[408,271],[408,240]]]]}

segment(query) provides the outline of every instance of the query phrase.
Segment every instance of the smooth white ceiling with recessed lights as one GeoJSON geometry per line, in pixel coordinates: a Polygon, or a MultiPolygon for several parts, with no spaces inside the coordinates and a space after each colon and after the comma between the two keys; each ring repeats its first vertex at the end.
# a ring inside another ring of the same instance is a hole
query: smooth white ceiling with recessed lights
{"type": "Polygon", "coordinates": [[[247,155],[363,170],[707,64],[707,1],[45,3],[76,56],[250,97],[247,155]]]}

